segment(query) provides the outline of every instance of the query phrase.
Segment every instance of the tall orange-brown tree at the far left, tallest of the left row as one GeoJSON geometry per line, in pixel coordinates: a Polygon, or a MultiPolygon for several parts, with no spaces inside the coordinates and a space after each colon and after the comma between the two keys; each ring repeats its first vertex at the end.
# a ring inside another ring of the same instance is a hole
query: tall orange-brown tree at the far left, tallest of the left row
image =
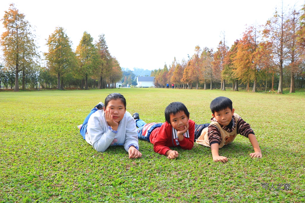
{"type": "Polygon", "coordinates": [[[36,37],[25,15],[20,13],[14,4],[9,6],[9,10],[4,12],[1,19],[5,32],[1,35],[0,44],[5,66],[15,75],[14,91],[18,92],[19,72],[23,71],[23,89],[25,90],[24,71],[25,68],[35,66],[34,58],[38,58],[38,51],[35,45],[36,37]]]}

